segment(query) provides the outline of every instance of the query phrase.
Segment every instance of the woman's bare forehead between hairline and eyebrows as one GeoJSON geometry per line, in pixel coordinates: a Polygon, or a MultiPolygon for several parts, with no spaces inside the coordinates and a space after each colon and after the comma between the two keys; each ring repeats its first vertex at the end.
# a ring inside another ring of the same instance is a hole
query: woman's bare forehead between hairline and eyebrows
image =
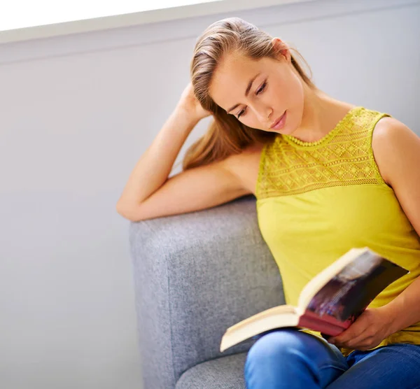
{"type": "Polygon", "coordinates": [[[227,55],[214,71],[209,93],[211,98],[228,110],[245,101],[245,90],[249,81],[265,71],[265,59],[251,59],[243,55],[227,55]]]}

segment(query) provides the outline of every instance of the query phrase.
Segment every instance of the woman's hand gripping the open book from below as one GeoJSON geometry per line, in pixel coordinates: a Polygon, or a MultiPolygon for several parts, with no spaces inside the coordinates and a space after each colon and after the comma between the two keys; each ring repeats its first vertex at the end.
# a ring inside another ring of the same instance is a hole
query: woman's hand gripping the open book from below
{"type": "Polygon", "coordinates": [[[360,351],[369,350],[391,334],[392,320],[385,306],[367,308],[347,330],[328,338],[328,343],[360,351]]]}

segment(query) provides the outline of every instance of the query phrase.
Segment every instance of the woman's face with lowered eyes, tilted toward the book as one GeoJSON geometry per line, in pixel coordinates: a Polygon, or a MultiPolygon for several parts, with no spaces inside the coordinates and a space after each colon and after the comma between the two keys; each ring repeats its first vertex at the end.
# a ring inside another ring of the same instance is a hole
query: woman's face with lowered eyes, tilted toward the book
{"type": "Polygon", "coordinates": [[[244,125],[291,134],[302,122],[302,83],[290,54],[279,55],[279,60],[231,54],[214,72],[209,92],[218,106],[244,125]],[[272,128],[284,113],[280,125],[272,128]]]}

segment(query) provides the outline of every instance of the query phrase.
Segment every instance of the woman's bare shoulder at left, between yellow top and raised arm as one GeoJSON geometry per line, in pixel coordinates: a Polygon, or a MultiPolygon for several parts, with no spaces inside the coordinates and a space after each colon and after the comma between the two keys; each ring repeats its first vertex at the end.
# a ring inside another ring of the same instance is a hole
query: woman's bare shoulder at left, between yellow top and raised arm
{"type": "Polygon", "coordinates": [[[255,195],[255,185],[257,183],[263,146],[262,143],[253,143],[241,153],[231,155],[225,160],[226,169],[235,174],[243,188],[246,188],[253,195],[255,195]]]}

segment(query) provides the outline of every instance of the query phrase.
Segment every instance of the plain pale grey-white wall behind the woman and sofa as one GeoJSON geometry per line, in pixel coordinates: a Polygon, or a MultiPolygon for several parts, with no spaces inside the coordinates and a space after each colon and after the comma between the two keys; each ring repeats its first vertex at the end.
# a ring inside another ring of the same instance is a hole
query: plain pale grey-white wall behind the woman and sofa
{"type": "MultiPolygon", "coordinates": [[[[420,134],[419,1],[236,15],[293,43],[321,89],[420,134]]],[[[188,81],[196,36],[227,16],[0,45],[1,388],[141,388],[115,205],[188,81]]]]}

